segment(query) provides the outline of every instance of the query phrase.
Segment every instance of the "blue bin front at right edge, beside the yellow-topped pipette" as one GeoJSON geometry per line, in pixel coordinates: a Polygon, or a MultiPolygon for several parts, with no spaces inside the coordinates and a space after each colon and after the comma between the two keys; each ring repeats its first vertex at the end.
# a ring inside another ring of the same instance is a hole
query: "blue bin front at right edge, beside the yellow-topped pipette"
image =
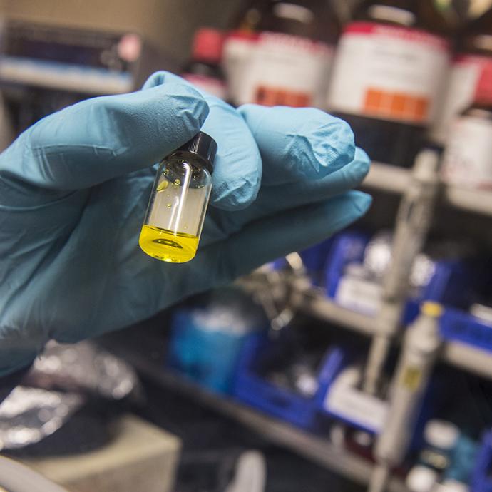
{"type": "Polygon", "coordinates": [[[492,326],[459,309],[446,308],[440,321],[441,335],[492,352],[492,326]]]}

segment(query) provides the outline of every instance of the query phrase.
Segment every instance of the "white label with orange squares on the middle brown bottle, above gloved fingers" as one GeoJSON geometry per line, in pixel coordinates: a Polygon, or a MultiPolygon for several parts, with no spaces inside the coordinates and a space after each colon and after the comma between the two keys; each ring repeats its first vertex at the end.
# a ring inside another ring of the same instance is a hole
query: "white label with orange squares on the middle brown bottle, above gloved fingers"
{"type": "Polygon", "coordinates": [[[332,58],[326,43],[263,32],[247,63],[238,103],[322,107],[332,58]]]}

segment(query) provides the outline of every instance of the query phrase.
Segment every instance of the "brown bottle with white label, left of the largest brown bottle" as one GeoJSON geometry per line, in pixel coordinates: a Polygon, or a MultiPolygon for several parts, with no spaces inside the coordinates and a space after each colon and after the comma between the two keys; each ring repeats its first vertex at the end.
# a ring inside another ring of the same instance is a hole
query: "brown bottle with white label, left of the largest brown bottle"
{"type": "MultiPolygon", "coordinates": [[[[339,32],[336,19],[325,0],[252,2],[239,23],[242,33],[250,33],[250,51],[242,58],[241,80],[232,74],[233,102],[322,107],[339,32]]],[[[227,41],[226,66],[239,44],[237,33],[227,41]]],[[[230,69],[226,72],[231,77],[230,69]]]]}

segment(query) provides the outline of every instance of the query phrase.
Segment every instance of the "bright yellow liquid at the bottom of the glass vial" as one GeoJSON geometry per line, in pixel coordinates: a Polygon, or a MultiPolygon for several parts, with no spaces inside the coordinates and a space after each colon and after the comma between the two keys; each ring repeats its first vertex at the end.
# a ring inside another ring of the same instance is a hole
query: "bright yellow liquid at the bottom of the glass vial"
{"type": "Polygon", "coordinates": [[[198,237],[144,225],[138,244],[153,258],[170,263],[190,261],[197,251],[198,237]]]}

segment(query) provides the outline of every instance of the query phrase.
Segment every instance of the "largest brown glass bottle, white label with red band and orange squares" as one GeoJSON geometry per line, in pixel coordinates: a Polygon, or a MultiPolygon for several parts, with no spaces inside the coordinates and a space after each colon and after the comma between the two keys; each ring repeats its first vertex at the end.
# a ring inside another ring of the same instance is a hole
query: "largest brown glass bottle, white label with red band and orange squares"
{"type": "Polygon", "coordinates": [[[337,48],[328,110],[373,160],[410,166],[449,66],[446,23],[429,0],[365,1],[337,48]]]}

